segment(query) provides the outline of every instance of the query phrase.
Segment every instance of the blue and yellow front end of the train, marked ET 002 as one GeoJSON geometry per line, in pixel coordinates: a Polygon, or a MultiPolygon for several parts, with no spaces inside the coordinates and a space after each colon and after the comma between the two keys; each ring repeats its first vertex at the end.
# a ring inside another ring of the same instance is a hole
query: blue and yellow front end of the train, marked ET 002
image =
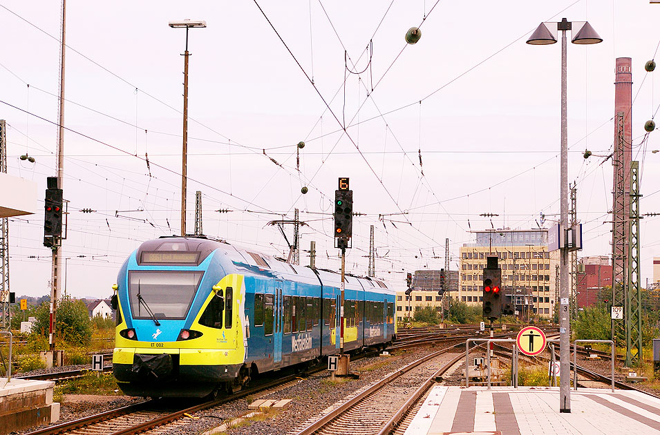
{"type": "Polygon", "coordinates": [[[131,255],[115,286],[117,385],[149,397],[202,397],[241,385],[247,376],[243,276],[225,275],[221,255],[212,251],[196,260],[175,255],[176,264],[163,264],[170,260],[162,255],[144,261],[145,252],[151,253],[131,255]]]}

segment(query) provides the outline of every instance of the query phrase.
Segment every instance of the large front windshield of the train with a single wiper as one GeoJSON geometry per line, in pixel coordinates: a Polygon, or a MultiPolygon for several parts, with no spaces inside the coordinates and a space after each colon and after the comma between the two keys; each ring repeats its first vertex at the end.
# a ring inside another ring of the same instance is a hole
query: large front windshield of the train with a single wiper
{"type": "Polygon", "coordinates": [[[130,271],[129,301],[135,319],[183,319],[197,292],[201,271],[130,271]],[[138,294],[140,297],[138,297],[138,294]]]}

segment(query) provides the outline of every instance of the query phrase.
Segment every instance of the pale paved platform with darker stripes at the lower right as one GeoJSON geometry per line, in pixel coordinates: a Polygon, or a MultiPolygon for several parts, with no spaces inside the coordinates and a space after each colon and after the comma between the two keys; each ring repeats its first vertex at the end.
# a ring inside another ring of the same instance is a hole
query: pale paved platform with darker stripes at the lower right
{"type": "Polygon", "coordinates": [[[405,435],[660,434],[660,398],[625,390],[559,387],[434,387],[405,435]]]}

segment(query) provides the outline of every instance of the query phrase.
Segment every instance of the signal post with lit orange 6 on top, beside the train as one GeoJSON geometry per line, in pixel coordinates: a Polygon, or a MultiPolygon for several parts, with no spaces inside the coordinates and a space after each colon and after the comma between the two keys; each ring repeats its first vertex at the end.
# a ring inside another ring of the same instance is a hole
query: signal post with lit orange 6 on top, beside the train
{"type": "MultiPolygon", "coordinates": [[[[339,298],[339,366],[338,375],[348,374],[348,355],[343,354],[343,298],[346,288],[346,248],[352,235],[353,191],[349,189],[348,177],[339,177],[339,189],[334,191],[334,240],[341,249],[341,297],[339,298]]],[[[335,334],[337,340],[337,334],[335,334]]]]}

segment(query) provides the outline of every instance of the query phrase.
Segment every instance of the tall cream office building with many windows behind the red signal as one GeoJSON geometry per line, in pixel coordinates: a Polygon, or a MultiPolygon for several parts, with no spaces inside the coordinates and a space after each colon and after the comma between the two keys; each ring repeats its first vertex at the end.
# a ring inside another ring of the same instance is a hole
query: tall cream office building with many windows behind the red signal
{"type": "Polygon", "coordinates": [[[516,307],[522,320],[552,318],[558,297],[558,251],[548,252],[547,229],[475,231],[475,242],[460,248],[458,292],[468,305],[483,300],[483,269],[487,255],[498,256],[503,302],[516,307]]]}

